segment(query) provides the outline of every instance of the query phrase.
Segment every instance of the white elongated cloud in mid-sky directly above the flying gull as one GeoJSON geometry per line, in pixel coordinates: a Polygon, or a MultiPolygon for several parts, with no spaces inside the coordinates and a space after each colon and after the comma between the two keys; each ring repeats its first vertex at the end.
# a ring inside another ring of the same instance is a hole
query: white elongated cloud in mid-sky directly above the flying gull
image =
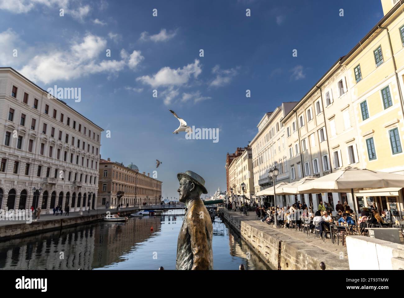
{"type": "Polygon", "coordinates": [[[183,68],[172,69],[166,66],[152,76],[142,76],[136,80],[151,87],[179,86],[188,83],[192,76],[196,79],[201,72],[199,60],[195,59],[194,63],[183,66],[183,68]]]}

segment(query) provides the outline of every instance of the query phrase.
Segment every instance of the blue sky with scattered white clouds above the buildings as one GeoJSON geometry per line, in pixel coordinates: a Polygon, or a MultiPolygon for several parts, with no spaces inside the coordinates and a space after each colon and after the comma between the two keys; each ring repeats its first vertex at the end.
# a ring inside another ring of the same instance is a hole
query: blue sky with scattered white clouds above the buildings
{"type": "Polygon", "coordinates": [[[0,65],[43,89],[80,87],[81,102],[65,101],[111,131],[102,158],[146,173],[162,161],[164,197],[178,197],[185,170],[213,194],[225,189],[226,153],[252,140],[263,114],[299,100],[382,17],[379,0],[0,0],[0,65]],[[168,109],[219,128],[219,142],[172,134],[168,109]]]}

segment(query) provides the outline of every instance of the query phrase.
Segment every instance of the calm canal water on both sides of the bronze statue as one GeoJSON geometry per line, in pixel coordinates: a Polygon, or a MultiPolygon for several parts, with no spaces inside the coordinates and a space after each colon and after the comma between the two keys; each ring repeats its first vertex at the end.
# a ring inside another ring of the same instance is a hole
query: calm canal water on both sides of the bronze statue
{"type": "MultiPolygon", "coordinates": [[[[175,269],[181,210],[156,217],[134,217],[124,223],[67,228],[0,242],[1,269],[166,270],[175,269]],[[153,228],[153,230],[151,230],[153,228]]],[[[182,211],[183,212],[183,211],[182,211]]],[[[213,268],[269,269],[227,224],[213,221],[213,268]]]]}

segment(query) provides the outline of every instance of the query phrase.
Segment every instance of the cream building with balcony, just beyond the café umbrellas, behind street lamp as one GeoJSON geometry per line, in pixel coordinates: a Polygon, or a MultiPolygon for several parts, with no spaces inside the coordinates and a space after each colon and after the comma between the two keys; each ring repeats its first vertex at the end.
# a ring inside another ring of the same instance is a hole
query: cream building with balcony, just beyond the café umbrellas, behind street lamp
{"type": "MultiPolygon", "coordinates": [[[[279,170],[276,183],[289,182],[286,130],[282,119],[296,103],[283,102],[275,111],[265,113],[257,125],[258,133],[250,142],[255,192],[273,186],[271,179],[268,177],[270,168],[277,167],[279,170]]],[[[271,200],[271,204],[274,204],[273,196],[271,200]]],[[[276,204],[284,206],[286,204],[285,197],[277,196],[276,204]]]]}

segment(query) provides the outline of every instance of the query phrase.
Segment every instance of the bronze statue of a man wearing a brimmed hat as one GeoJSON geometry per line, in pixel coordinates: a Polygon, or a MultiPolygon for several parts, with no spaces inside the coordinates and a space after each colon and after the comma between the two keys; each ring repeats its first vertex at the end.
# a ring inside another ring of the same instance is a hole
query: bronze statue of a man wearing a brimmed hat
{"type": "Polygon", "coordinates": [[[178,235],[177,270],[212,270],[213,226],[208,210],[200,199],[207,194],[205,180],[192,171],[177,174],[179,201],[187,212],[178,235]]]}

